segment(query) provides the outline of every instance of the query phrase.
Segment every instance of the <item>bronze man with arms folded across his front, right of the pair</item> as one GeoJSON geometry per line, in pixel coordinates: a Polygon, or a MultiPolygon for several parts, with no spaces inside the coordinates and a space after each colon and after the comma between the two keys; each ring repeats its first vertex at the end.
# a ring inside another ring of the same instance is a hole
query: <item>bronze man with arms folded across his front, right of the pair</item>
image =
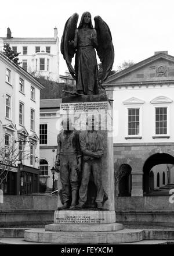
{"type": "Polygon", "coordinates": [[[88,183],[90,173],[93,173],[94,183],[97,188],[96,204],[97,208],[103,209],[103,202],[107,200],[102,185],[102,156],[104,150],[104,137],[98,131],[94,130],[92,122],[92,130],[81,131],[79,133],[79,143],[83,155],[82,160],[82,179],[79,188],[79,204],[77,209],[84,208],[87,200],[88,183]]]}

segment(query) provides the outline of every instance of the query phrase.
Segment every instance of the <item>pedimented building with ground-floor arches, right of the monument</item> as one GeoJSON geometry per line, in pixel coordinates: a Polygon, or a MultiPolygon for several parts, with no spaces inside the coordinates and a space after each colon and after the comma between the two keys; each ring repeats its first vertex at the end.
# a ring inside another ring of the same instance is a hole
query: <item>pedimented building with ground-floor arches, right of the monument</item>
{"type": "Polygon", "coordinates": [[[155,52],[104,86],[113,99],[115,175],[128,173],[119,190],[143,196],[174,183],[174,57],[155,52]]]}

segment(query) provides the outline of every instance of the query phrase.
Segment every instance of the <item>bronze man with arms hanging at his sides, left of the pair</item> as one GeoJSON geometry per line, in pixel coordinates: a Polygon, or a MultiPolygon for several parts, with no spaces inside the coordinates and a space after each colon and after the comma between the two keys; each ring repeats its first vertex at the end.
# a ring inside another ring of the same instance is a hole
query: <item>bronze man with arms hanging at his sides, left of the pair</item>
{"type": "Polygon", "coordinates": [[[78,172],[81,171],[81,150],[78,132],[67,120],[67,129],[57,136],[56,165],[60,166],[63,206],[58,209],[74,209],[78,195],[78,172]]]}

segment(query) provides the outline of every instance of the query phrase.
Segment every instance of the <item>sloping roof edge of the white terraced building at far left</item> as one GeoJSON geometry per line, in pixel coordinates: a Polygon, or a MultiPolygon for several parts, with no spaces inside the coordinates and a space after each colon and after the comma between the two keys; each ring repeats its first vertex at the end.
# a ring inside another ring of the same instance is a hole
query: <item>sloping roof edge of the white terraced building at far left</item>
{"type": "Polygon", "coordinates": [[[39,87],[39,89],[44,89],[45,86],[41,83],[39,83],[39,81],[37,79],[35,79],[35,77],[31,76],[30,73],[28,73],[26,70],[24,70],[21,66],[15,64],[13,61],[11,61],[5,54],[3,54],[2,52],[0,52],[0,58],[3,59],[4,61],[8,62],[10,65],[12,65],[14,67],[14,69],[17,69],[17,71],[20,71],[24,76],[26,76],[30,81],[32,81],[35,85],[37,85],[39,87]]]}

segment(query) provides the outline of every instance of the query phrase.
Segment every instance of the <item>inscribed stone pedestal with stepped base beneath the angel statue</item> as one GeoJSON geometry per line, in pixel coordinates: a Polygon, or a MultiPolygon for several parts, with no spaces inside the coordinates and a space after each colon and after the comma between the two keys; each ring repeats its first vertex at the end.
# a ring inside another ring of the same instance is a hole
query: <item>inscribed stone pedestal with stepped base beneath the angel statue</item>
{"type": "MultiPolygon", "coordinates": [[[[111,241],[114,241],[114,236],[118,239],[119,234],[115,232],[123,229],[122,224],[115,223],[113,130],[110,102],[105,94],[68,96],[63,99],[63,103],[60,105],[60,115],[63,120],[71,119],[76,130],[78,128],[84,130],[84,127],[86,129],[86,120],[89,116],[95,116],[94,130],[103,134],[104,137],[102,185],[108,199],[103,204],[103,210],[97,209],[96,190],[94,185],[90,185],[88,192],[92,191],[92,193],[88,194],[88,204],[84,205],[84,209],[55,211],[54,223],[46,225],[45,232],[33,232],[32,230],[28,232],[27,230],[25,240],[64,244],[110,243],[108,237],[111,237],[111,241]]],[[[59,198],[58,207],[60,206],[59,198]]]]}

